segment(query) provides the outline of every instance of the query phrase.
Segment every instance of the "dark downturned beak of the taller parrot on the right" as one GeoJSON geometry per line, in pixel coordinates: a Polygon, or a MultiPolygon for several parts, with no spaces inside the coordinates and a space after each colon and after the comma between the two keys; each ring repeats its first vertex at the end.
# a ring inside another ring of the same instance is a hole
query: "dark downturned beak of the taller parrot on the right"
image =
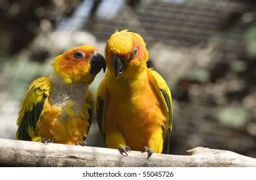
{"type": "Polygon", "coordinates": [[[119,55],[113,55],[112,66],[115,78],[117,78],[118,75],[121,75],[124,69],[127,67],[127,62],[124,60],[124,57],[121,57],[119,55]]]}

